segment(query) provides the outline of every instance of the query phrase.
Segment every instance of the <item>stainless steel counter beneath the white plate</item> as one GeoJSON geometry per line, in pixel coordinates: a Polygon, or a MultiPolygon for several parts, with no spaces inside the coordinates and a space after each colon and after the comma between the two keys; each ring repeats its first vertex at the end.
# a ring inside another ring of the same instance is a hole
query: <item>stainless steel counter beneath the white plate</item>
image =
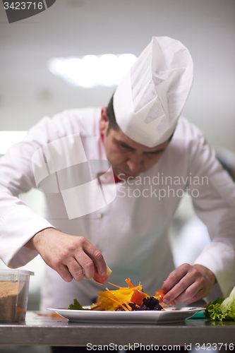
{"type": "MultiPolygon", "coordinates": [[[[162,325],[83,324],[28,311],[26,320],[21,323],[0,323],[0,345],[86,346],[88,342],[91,345],[141,343],[158,346],[205,343],[206,347],[221,343],[229,352],[235,351],[235,348],[231,349],[235,346],[235,322],[191,318],[183,323],[162,325]]],[[[212,351],[212,347],[209,350],[212,351]]]]}

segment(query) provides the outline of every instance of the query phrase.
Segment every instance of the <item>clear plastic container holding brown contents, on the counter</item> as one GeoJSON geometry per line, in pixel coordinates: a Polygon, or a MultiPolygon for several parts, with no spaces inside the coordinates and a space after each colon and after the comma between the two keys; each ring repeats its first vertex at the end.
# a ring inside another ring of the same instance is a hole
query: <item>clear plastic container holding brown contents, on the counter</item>
{"type": "Polygon", "coordinates": [[[0,270],[0,321],[11,323],[25,320],[30,275],[25,270],[0,270]]]}

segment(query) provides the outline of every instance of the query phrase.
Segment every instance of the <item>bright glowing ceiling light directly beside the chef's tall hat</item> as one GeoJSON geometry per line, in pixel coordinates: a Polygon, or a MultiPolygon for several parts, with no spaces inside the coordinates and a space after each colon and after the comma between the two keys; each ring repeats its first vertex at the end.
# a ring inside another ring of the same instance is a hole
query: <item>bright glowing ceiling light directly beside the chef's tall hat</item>
{"type": "Polygon", "coordinates": [[[71,85],[92,88],[118,85],[137,60],[133,54],[86,55],[83,58],[52,58],[47,67],[71,85]]]}

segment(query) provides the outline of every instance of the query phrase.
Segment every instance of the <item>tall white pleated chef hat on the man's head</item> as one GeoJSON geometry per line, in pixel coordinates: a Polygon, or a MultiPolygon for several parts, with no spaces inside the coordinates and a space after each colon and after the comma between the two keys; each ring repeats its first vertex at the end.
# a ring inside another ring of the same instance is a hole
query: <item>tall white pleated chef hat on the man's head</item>
{"type": "Polygon", "coordinates": [[[114,93],[116,122],[129,138],[155,147],[174,131],[193,83],[188,49],[169,37],[152,41],[114,93]]]}

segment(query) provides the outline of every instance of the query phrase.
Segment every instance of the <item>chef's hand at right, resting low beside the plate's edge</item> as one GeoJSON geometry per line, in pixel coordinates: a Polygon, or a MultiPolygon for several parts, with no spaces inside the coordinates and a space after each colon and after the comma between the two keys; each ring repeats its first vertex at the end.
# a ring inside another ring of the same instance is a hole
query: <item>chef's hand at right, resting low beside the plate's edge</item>
{"type": "Polygon", "coordinates": [[[215,275],[208,268],[183,263],[169,274],[162,286],[164,302],[191,304],[206,297],[215,282],[215,275]]]}

